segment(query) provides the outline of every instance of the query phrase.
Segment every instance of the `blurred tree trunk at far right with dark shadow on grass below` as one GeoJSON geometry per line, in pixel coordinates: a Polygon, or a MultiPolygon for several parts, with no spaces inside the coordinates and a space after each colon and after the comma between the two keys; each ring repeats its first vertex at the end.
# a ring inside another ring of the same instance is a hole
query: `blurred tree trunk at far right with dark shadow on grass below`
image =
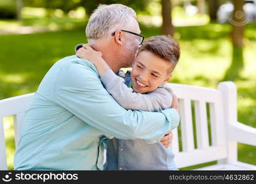
{"type": "Polygon", "coordinates": [[[246,16],[242,6],[244,0],[233,0],[234,10],[232,18],[229,20],[232,25],[231,39],[233,44],[232,62],[227,70],[224,80],[234,80],[239,77],[239,72],[244,67],[244,58],[242,55],[244,43],[244,25],[246,24],[246,16]]]}

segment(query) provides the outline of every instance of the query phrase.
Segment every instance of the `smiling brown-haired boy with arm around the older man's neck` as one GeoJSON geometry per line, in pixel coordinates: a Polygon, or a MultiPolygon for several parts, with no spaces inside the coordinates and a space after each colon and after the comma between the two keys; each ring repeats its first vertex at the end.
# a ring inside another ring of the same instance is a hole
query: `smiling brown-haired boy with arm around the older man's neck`
{"type": "MultiPolygon", "coordinates": [[[[93,63],[106,90],[125,109],[158,111],[171,107],[172,90],[165,84],[171,79],[179,56],[179,44],[171,37],[147,39],[133,62],[132,71],[114,74],[102,58],[88,45],[77,56],[93,63]],[[129,87],[127,87],[129,86],[129,87]]],[[[178,125],[171,125],[171,129],[178,125]]],[[[126,130],[123,130],[126,131],[126,130]]],[[[152,130],[153,131],[153,130],[152,130]]],[[[105,170],[177,170],[174,154],[160,142],[109,139],[105,170]]]]}

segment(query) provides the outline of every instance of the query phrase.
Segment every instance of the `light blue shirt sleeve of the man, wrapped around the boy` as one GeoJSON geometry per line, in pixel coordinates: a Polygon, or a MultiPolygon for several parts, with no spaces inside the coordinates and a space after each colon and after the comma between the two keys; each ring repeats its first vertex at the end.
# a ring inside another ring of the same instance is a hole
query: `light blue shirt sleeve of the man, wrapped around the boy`
{"type": "MultiPolygon", "coordinates": [[[[83,62],[87,62],[83,60],[83,62]]],[[[174,109],[161,112],[125,110],[101,84],[93,64],[66,64],[55,85],[56,104],[106,134],[118,139],[157,142],[179,115],[174,109]]]]}

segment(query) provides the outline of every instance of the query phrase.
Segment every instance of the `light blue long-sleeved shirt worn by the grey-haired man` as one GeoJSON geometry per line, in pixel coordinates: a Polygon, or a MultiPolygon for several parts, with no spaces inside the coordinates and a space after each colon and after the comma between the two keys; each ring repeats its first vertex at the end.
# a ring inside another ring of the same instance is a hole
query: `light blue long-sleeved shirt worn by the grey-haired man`
{"type": "Polygon", "coordinates": [[[104,139],[157,142],[177,111],[125,110],[104,89],[93,64],[77,56],[47,72],[25,115],[15,170],[102,170],[104,139]]]}

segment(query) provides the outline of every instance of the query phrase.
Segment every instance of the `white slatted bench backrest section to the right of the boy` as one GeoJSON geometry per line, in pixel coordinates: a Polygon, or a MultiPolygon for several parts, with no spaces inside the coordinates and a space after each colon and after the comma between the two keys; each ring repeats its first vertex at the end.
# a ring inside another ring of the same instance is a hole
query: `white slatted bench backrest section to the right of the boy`
{"type": "Polygon", "coordinates": [[[192,85],[170,83],[169,86],[180,101],[181,140],[174,137],[172,144],[175,147],[170,147],[176,155],[177,167],[227,158],[222,93],[219,90],[192,85]],[[209,112],[207,104],[209,104],[209,112]],[[195,126],[195,132],[193,126],[195,126]],[[195,136],[196,139],[194,139],[195,136]],[[177,149],[180,147],[179,144],[182,144],[182,151],[177,149]]]}

